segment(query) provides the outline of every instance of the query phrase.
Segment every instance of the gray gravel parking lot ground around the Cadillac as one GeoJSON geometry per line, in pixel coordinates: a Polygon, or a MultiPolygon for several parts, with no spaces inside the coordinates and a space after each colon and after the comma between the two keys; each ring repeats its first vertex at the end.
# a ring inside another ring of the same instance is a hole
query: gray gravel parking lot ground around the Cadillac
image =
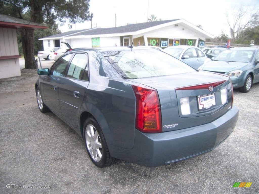
{"type": "Polygon", "coordinates": [[[101,169],[73,129],[39,111],[37,71],[21,74],[0,79],[0,193],[259,193],[259,84],[234,91],[239,121],[212,152],[155,168],[118,161],[101,169]]]}

